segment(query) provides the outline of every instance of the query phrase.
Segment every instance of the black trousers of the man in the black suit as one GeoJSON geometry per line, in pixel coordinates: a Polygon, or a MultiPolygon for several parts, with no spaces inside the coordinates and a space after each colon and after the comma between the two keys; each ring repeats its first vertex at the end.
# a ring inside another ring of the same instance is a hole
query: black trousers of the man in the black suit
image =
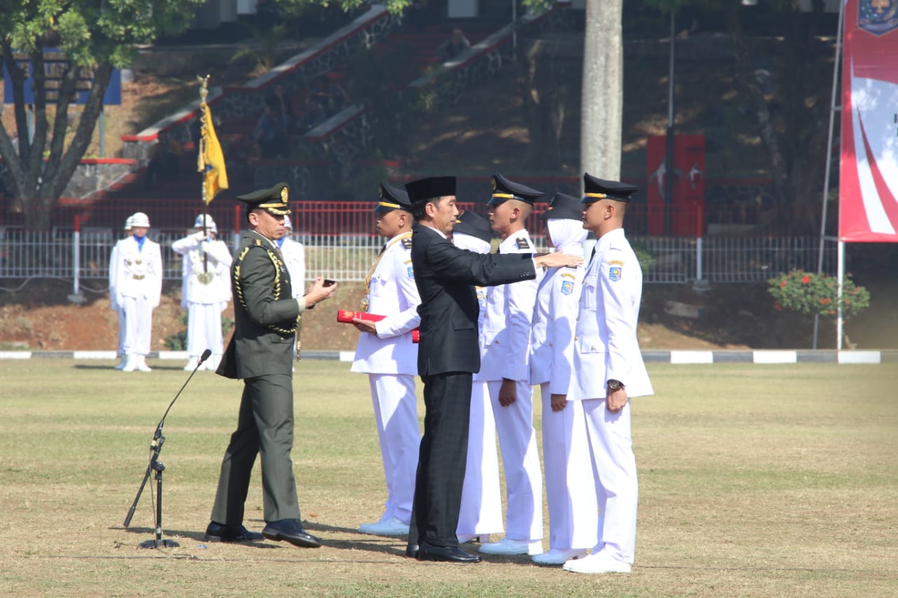
{"type": "Polygon", "coordinates": [[[424,436],[418,453],[409,543],[458,546],[455,530],[462,507],[471,423],[470,372],[421,376],[424,436]]]}

